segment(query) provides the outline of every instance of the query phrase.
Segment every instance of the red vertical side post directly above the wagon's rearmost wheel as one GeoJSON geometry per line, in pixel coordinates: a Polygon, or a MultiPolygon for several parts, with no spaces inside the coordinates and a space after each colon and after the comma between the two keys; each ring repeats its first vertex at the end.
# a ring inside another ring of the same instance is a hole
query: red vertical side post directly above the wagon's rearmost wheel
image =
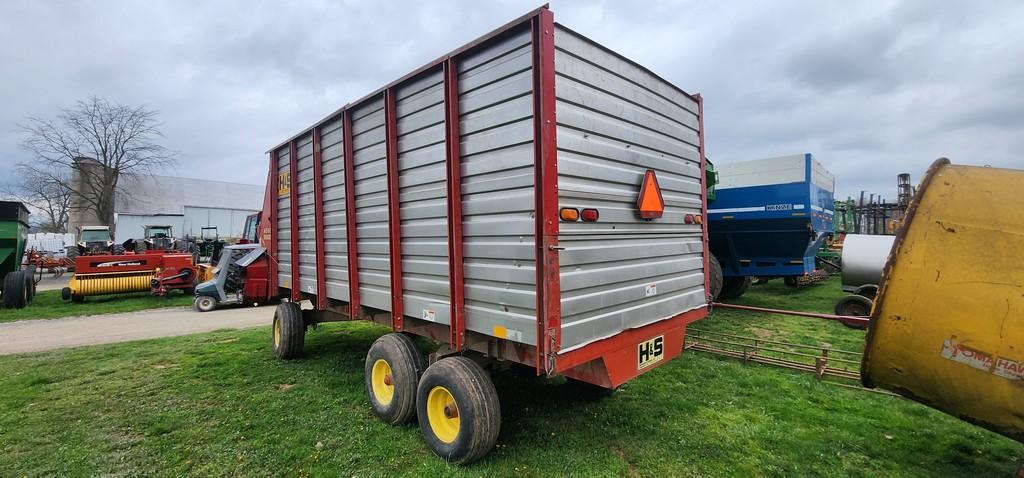
{"type": "Polygon", "coordinates": [[[466,295],[462,256],[462,157],[459,149],[459,66],[444,61],[444,144],[447,165],[449,285],[452,302],[450,346],[462,350],[466,340],[466,295]]]}

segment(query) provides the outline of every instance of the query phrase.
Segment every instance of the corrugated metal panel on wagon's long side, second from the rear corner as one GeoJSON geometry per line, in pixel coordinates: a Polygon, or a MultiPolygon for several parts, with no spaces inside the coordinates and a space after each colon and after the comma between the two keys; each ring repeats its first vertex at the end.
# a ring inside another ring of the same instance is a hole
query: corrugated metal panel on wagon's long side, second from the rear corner
{"type": "Polygon", "coordinates": [[[406,315],[451,321],[447,169],[440,70],[397,88],[401,284],[406,315]]]}

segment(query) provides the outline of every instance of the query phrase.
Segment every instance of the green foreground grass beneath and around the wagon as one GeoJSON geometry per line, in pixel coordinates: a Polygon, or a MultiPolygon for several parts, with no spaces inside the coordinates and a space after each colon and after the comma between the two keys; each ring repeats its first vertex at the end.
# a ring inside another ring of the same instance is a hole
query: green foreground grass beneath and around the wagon
{"type": "MultiPolygon", "coordinates": [[[[743,300],[827,309],[838,289],[767,288],[743,300]],[[762,297],[776,292],[785,297],[762,297]]],[[[724,312],[698,323],[862,340],[838,323],[724,312]]],[[[373,416],[362,360],[386,332],[328,324],[290,362],[272,358],[267,329],[0,358],[0,474],[1005,477],[1024,457],[1019,443],[908,400],[688,352],[605,399],[497,375],[498,447],[455,468],[417,427],[373,416]]]]}

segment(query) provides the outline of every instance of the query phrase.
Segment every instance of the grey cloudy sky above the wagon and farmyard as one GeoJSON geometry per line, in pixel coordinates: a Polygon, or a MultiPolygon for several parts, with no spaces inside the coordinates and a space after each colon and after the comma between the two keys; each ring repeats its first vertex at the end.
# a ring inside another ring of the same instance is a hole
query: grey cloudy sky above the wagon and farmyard
{"type": "MultiPolygon", "coordinates": [[[[172,174],[264,151],[516,17],[521,1],[0,2],[0,171],[17,123],[98,95],[160,112],[172,174]],[[288,3],[286,5],[286,3],[288,3]]],[[[1024,2],[554,1],[556,21],[705,97],[716,162],[813,153],[837,195],[954,163],[1024,168],[1024,2]]],[[[0,183],[12,179],[0,175],[0,183]]]]}

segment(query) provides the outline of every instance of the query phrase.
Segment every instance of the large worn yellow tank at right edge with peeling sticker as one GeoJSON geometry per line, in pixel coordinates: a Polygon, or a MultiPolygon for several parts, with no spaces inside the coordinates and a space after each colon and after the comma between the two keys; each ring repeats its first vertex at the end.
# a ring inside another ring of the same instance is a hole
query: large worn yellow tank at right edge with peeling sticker
{"type": "Polygon", "coordinates": [[[864,385],[1024,441],[1022,254],[1024,171],[936,161],[883,273],[864,385]]]}

